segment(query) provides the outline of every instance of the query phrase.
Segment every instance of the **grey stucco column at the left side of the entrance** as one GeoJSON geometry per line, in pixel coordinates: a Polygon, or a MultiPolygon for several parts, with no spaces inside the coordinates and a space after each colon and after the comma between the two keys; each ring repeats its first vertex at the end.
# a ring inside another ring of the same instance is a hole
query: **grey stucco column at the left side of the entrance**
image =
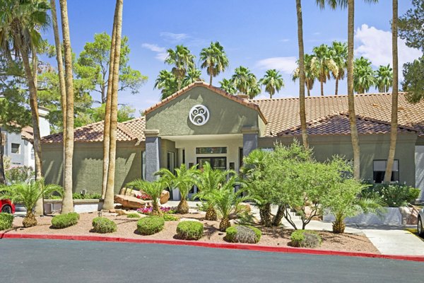
{"type": "Polygon", "coordinates": [[[160,169],[160,137],[158,129],[144,130],[146,137],[146,180],[154,181],[158,176],[153,175],[160,169]]]}

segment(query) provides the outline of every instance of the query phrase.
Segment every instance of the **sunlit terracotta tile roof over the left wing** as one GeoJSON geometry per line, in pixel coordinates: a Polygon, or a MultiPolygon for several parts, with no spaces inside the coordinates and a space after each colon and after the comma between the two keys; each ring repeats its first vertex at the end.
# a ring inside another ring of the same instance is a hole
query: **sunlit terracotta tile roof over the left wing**
{"type": "MultiPolygon", "coordinates": [[[[95,122],[90,125],[78,127],[74,129],[74,141],[103,141],[103,127],[104,122],[95,122]]],[[[143,140],[143,130],[145,127],[144,117],[134,120],[122,122],[117,124],[117,141],[133,141],[143,140]]],[[[42,138],[42,143],[52,144],[61,142],[63,138],[62,133],[50,134],[42,138]]]]}

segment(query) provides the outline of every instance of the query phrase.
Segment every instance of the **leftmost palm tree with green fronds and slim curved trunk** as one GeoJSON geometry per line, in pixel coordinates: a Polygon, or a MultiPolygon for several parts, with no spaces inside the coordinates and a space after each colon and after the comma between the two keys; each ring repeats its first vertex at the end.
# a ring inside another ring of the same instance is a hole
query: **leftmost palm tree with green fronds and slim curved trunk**
{"type": "MultiPolygon", "coordinates": [[[[10,62],[12,53],[23,62],[30,92],[33,121],[35,178],[42,178],[41,137],[37,103],[37,48],[42,45],[40,30],[49,25],[49,6],[41,0],[4,0],[0,5],[0,50],[10,62]],[[32,67],[30,63],[32,56],[32,67]]],[[[37,202],[35,214],[42,214],[42,199],[37,202]]]]}

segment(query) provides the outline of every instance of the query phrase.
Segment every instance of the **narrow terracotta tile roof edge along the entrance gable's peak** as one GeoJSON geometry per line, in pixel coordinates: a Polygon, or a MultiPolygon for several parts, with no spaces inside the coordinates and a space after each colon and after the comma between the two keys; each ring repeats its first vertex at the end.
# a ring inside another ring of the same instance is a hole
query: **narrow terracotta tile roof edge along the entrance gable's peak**
{"type": "Polygon", "coordinates": [[[237,103],[240,103],[242,105],[245,105],[249,108],[252,108],[254,110],[257,110],[259,112],[259,116],[261,119],[267,123],[266,116],[261,112],[261,109],[256,103],[252,103],[247,99],[239,98],[237,96],[232,96],[230,93],[223,91],[221,88],[217,88],[216,86],[211,86],[209,83],[205,83],[204,81],[195,81],[194,83],[189,84],[189,86],[186,86],[185,88],[180,89],[176,93],[172,94],[172,96],[168,96],[164,100],[161,100],[160,102],[156,103],[155,105],[151,106],[150,108],[147,108],[144,111],[144,115],[147,115],[148,113],[152,112],[155,109],[160,108],[160,106],[165,105],[166,103],[170,102],[171,100],[174,100],[175,98],[182,96],[184,93],[187,93],[187,91],[191,90],[192,88],[195,88],[197,86],[203,86],[204,88],[208,88],[209,90],[220,94],[221,96],[224,96],[225,98],[228,98],[230,100],[233,100],[237,103]]]}

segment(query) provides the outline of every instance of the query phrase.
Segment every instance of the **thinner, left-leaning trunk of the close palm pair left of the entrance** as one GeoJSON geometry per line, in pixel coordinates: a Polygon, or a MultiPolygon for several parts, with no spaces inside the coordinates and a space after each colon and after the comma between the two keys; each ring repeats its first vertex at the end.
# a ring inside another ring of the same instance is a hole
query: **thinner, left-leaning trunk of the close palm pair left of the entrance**
{"type": "MultiPolygon", "coordinates": [[[[116,17],[117,11],[115,11],[116,17]]],[[[107,188],[107,172],[109,171],[109,150],[110,150],[110,103],[112,94],[112,80],[113,80],[113,67],[114,67],[114,42],[116,40],[116,26],[112,27],[112,43],[110,46],[110,62],[109,62],[109,76],[107,78],[107,96],[105,107],[105,125],[103,125],[103,179],[102,179],[102,199],[105,199],[107,188]]]]}

